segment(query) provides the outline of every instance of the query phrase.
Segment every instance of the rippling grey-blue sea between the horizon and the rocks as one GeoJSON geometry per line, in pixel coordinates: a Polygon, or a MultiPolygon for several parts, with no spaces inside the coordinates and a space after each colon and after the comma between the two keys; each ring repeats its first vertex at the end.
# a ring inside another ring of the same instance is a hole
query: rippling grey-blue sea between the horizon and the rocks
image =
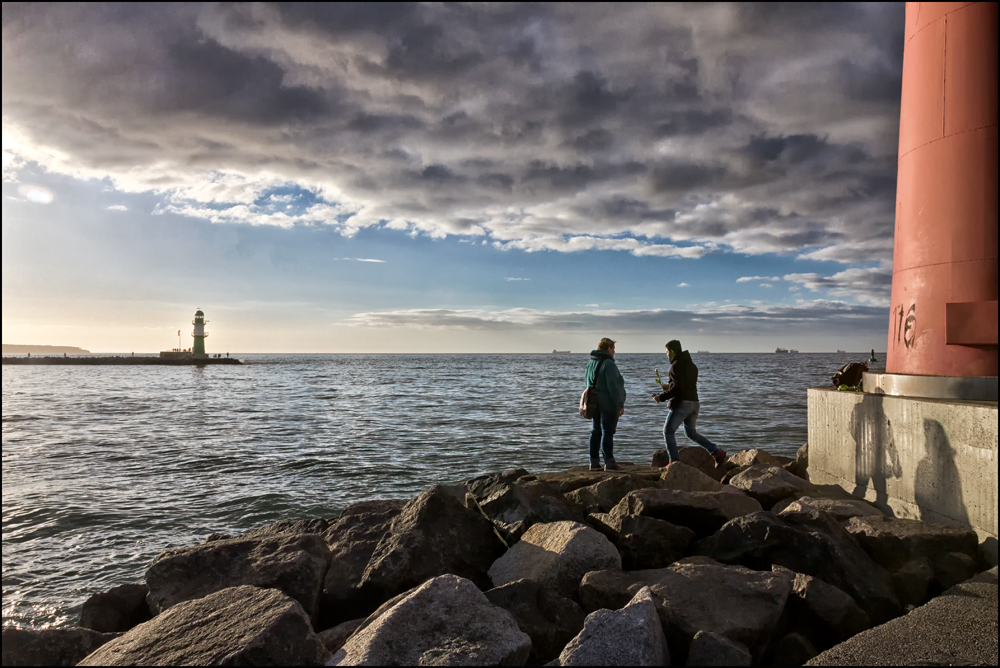
{"type": "MultiPolygon", "coordinates": [[[[794,455],[806,388],[867,355],[694,354],[699,431],[794,455]]],[[[368,498],[585,464],[587,355],[246,355],[243,366],[3,367],[3,624],[73,626],[161,551],[368,498]]],[[[619,461],[663,447],[663,355],[616,357],[619,461]]],[[[680,433],[679,444],[690,445],[680,433]]]]}

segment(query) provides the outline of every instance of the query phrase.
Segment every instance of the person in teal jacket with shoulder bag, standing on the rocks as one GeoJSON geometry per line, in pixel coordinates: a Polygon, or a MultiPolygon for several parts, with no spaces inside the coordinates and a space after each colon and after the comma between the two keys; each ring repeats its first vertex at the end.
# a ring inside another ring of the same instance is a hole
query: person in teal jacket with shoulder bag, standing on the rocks
{"type": "Polygon", "coordinates": [[[603,338],[597,350],[590,352],[584,380],[587,387],[597,387],[597,405],[600,414],[594,418],[590,430],[590,470],[601,470],[600,454],[604,454],[604,470],[624,473],[615,463],[615,432],[618,418],[625,413],[625,379],[615,364],[615,342],[603,338]]]}

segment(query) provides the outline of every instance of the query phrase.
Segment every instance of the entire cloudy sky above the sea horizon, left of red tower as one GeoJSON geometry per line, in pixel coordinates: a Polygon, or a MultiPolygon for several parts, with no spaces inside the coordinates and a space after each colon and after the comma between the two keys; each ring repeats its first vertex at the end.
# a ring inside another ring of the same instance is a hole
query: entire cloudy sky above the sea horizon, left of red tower
{"type": "Polygon", "coordinates": [[[3,4],[3,341],[881,349],[899,4],[3,4]]]}

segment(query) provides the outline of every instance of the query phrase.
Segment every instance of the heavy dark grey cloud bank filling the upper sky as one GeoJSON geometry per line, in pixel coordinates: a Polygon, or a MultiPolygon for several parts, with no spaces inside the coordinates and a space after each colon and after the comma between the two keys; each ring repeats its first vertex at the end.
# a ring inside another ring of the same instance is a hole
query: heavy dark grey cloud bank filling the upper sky
{"type": "Polygon", "coordinates": [[[218,222],[887,261],[901,35],[882,4],[7,3],[5,178],[218,222]],[[309,207],[259,205],[291,183],[309,207]]]}

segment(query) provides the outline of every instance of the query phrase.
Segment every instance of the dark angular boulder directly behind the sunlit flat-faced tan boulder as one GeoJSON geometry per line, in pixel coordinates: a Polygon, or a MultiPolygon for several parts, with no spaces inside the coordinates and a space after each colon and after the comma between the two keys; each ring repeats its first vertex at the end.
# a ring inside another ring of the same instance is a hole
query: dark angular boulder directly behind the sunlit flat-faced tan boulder
{"type": "Polygon", "coordinates": [[[524,469],[474,478],[466,483],[480,511],[488,517],[508,546],[533,524],[583,519],[555,486],[542,481],[515,482],[524,469]]]}

